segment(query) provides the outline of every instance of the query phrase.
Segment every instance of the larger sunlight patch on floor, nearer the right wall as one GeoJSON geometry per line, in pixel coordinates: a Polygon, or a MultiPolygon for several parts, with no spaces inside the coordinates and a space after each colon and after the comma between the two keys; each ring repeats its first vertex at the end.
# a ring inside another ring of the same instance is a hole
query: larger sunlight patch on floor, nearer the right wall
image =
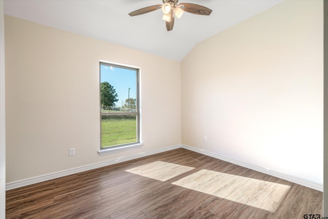
{"type": "Polygon", "coordinates": [[[277,210],[290,189],[288,185],[205,169],[172,184],[270,212],[277,210]]]}

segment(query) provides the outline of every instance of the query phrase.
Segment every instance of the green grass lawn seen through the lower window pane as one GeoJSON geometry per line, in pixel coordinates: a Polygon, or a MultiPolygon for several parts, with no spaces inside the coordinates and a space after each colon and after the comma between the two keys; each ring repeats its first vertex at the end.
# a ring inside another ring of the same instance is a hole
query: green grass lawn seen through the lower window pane
{"type": "Polygon", "coordinates": [[[136,117],[103,115],[101,117],[101,147],[137,141],[136,117]]]}

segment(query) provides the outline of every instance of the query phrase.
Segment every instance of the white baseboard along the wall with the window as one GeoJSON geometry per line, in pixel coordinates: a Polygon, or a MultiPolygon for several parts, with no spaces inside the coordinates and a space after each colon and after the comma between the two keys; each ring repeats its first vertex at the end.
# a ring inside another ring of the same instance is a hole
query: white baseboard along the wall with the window
{"type": "Polygon", "coordinates": [[[16,189],[16,188],[20,188],[20,187],[23,187],[23,186],[29,186],[29,185],[32,185],[32,184],[41,183],[41,182],[45,182],[45,181],[48,181],[48,180],[53,180],[55,178],[59,178],[59,177],[63,177],[63,176],[67,176],[67,175],[71,175],[71,174],[75,174],[75,173],[80,173],[80,172],[84,172],[84,171],[87,171],[87,170],[93,170],[93,169],[96,169],[96,168],[99,168],[99,167],[105,167],[105,166],[109,166],[109,165],[113,165],[113,164],[118,164],[118,163],[121,163],[121,162],[134,160],[136,158],[140,158],[140,157],[144,157],[144,156],[148,156],[148,155],[152,155],[152,154],[156,154],[156,153],[170,151],[170,150],[174,150],[174,149],[177,149],[177,148],[181,148],[181,145],[174,145],[174,146],[167,147],[167,148],[161,148],[161,149],[158,149],[158,150],[138,153],[138,154],[135,154],[135,155],[132,155],[132,156],[120,157],[120,158],[117,158],[115,160],[100,162],[100,163],[96,163],[96,164],[91,164],[91,165],[86,165],[86,166],[82,166],[82,167],[72,168],[72,169],[69,169],[69,170],[64,170],[64,171],[49,173],[49,174],[40,175],[40,176],[36,176],[36,177],[32,177],[32,178],[27,178],[26,180],[20,180],[20,181],[15,181],[15,182],[12,182],[12,183],[7,183],[6,184],[6,190],[16,189]]]}

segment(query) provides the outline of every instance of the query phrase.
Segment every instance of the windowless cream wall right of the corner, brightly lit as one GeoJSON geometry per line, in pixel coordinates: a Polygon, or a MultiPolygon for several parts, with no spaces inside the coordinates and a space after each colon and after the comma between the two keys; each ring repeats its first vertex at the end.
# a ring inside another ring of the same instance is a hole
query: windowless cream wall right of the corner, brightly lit
{"type": "Polygon", "coordinates": [[[214,35],[181,72],[182,144],[322,184],[322,1],[284,1],[214,35]]]}

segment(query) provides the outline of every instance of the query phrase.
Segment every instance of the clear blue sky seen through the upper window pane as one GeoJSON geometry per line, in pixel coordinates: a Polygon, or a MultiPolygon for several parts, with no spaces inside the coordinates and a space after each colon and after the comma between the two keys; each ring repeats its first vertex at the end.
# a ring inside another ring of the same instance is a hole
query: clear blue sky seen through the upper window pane
{"type": "Polygon", "coordinates": [[[117,68],[107,65],[100,65],[100,82],[111,84],[118,95],[116,106],[122,106],[122,102],[129,96],[136,98],[136,71],[124,68],[117,68]]]}

